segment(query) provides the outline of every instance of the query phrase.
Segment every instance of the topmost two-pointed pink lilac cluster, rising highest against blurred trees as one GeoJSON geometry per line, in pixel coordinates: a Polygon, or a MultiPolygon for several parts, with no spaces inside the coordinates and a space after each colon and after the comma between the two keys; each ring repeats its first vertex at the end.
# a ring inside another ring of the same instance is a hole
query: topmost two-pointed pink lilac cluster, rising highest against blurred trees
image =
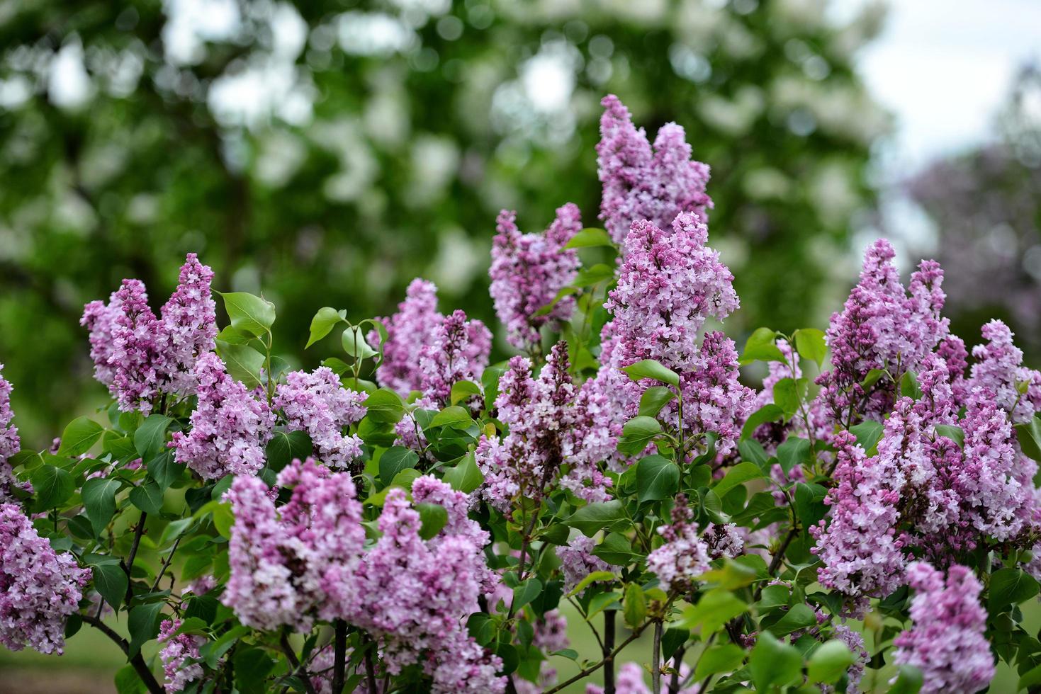
{"type": "Polygon", "coordinates": [[[668,229],[681,212],[703,221],[712,200],[705,192],[709,168],[691,160],[683,128],[666,123],[658,130],[654,151],[643,128],[636,129],[629,109],[614,95],[601,101],[596,164],[604,190],[600,219],[620,243],[634,222],[646,220],[668,229]]]}

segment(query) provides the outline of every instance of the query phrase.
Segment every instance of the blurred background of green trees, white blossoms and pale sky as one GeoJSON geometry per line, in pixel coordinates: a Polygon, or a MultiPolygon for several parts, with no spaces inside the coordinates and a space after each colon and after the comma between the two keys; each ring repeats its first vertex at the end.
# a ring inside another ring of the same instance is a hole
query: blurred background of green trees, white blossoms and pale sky
{"type": "Polygon", "coordinates": [[[884,234],[905,269],[943,263],[966,342],[996,315],[1037,363],[1039,37],[1032,0],[2,0],[17,423],[43,446],[94,407],[82,305],[137,277],[157,307],[188,251],[274,301],[304,365],[319,307],[386,314],[417,275],[489,318],[501,208],[533,230],[572,201],[598,224],[607,93],[711,164],[739,341],[823,327],[884,234]]]}

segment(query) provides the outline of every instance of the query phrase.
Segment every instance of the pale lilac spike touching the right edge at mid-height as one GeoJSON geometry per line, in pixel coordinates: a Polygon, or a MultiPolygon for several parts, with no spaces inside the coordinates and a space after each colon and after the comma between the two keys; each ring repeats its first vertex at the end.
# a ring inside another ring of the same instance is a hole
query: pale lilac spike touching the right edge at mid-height
{"type": "Polygon", "coordinates": [[[987,343],[972,348],[975,363],[966,387],[989,391],[1013,423],[1030,421],[1041,410],[1041,374],[1022,365],[1023,353],[1004,323],[991,320],[982,332],[987,343]]]}

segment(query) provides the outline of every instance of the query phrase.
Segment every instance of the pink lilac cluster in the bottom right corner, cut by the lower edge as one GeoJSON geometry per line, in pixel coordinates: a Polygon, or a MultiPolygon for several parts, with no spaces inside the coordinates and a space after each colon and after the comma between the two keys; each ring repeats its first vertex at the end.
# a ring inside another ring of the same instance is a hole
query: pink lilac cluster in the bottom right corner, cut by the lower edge
{"type": "Polygon", "coordinates": [[[911,629],[893,642],[893,661],[922,672],[922,694],[977,692],[994,676],[994,659],[984,638],[987,612],[980,605],[983,586],[960,564],[943,573],[924,562],[908,566],[911,629]]]}

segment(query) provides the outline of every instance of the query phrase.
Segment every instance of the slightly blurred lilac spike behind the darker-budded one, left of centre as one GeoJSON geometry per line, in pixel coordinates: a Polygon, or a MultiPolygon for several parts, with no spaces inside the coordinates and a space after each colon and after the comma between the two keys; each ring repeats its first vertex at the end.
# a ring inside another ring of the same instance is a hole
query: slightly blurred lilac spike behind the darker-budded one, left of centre
{"type": "MultiPolygon", "coordinates": [[[[398,304],[398,312],[381,318],[387,330],[383,361],[376,369],[381,385],[403,396],[423,388],[423,371],[416,356],[434,341],[443,319],[437,312],[437,286],[420,278],[412,280],[405,290],[405,301],[398,304]]],[[[379,333],[373,331],[369,339],[377,344],[379,333]]]]}

